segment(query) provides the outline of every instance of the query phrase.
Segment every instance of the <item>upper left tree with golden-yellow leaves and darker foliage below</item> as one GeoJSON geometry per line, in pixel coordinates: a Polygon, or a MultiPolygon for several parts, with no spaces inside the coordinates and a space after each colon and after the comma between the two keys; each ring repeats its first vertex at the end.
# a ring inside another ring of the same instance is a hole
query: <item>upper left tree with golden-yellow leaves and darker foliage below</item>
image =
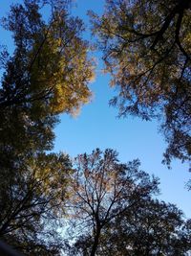
{"type": "Polygon", "coordinates": [[[69,16],[62,2],[25,0],[11,6],[3,21],[15,49],[2,60],[1,165],[51,150],[58,114],[74,113],[91,96],[87,84],[94,76],[93,62],[87,56],[89,45],[80,37],[83,24],[69,16]],[[53,3],[48,23],[40,14],[44,2],[53,3]]]}

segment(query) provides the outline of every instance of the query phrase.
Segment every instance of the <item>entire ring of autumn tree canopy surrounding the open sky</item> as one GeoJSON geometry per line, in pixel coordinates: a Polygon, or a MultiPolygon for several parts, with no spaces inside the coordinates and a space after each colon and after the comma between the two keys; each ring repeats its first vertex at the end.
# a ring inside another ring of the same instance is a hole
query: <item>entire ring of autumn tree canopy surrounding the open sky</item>
{"type": "MultiPolygon", "coordinates": [[[[29,256],[185,255],[191,221],[154,198],[159,179],[138,159],[120,163],[111,149],[74,161],[50,152],[59,114],[75,114],[92,95],[90,44],[70,2],[24,0],[1,21],[14,51],[0,54],[0,240],[29,256]]],[[[119,88],[112,103],[120,115],[165,113],[168,163],[190,159],[190,8],[190,0],[108,0],[102,17],[92,14],[119,88]]]]}

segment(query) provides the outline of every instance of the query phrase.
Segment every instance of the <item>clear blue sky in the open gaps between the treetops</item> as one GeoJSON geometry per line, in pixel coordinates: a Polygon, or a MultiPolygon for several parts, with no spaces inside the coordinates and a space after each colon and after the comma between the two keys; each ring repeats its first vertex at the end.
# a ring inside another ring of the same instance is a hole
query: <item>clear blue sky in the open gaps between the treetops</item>
{"type": "MultiPolygon", "coordinates": [[[[1,1],[1,13],[8,12],[11,1],[1,1]]],[[[103,12],[103,0],[77,0],[73,13],[82,18],[86,24],[84,36],[91,39],[88,10],[103,12]]],[[[0,30],[0,44],[8,44],[12,49],[11,37],[0,30]]],[[[117,118],[117,109],[108,102],[115,90],[109,87],[109,75],[101,73],[102,62],[100,53],[96,53],[96,81],[90,84],[94,97],[89,105],[82,107],[80,114],[72,118],[66,114],[60,116],[61,122],[55,128],[54,151],[65,151],[74,157],[78,153],[90,153],[96,148],[105,150],[112,148],[118,151],[119,160],[127,162],[139,158],[141,169],[160,178],[159,198],[177,204],[191,218],[191,192],[185,189],[185,183],[190,178],[188,166],[176,160],[172,169],[168,170],[161,164],[162,152],[165,150],[164,139],[159,134],[159,124],[143,122],[138,118],[117,118]]]]}

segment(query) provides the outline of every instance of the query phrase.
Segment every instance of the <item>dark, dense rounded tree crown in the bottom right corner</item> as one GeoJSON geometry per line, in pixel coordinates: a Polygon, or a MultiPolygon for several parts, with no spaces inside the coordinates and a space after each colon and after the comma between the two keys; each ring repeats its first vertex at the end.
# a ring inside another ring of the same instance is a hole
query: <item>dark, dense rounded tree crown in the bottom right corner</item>
{"type": "Polygon", "coordinates": [[[186,221],[173,204],[145,200],[131,211],[119,215],[108,226],[98,255],[187,255],[186,221]]]}

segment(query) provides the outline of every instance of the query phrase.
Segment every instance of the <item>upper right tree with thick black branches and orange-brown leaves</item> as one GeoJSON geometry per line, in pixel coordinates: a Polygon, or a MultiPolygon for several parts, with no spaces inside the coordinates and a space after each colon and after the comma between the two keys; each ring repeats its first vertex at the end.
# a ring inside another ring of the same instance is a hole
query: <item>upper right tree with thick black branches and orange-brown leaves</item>
{"type": "Polygon", "coordinates": [[[91,13],[119,115],[162,119],[169,165],[191,157],[191,1],[107,0],[91,13]]]}

